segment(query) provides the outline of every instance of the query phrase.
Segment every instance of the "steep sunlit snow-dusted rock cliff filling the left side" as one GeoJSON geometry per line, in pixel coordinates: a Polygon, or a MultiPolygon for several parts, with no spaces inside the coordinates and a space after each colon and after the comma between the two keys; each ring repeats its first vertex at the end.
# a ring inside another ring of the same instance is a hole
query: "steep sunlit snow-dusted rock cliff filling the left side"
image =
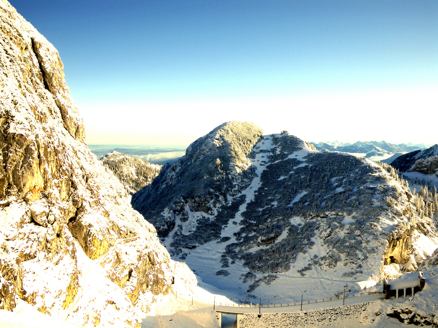
{"type": "Polygon", "coordinates": [[[88,151],[53,45],[6,0],[0,31],[0,308],[140,327],[170,257],[88,151]]]}

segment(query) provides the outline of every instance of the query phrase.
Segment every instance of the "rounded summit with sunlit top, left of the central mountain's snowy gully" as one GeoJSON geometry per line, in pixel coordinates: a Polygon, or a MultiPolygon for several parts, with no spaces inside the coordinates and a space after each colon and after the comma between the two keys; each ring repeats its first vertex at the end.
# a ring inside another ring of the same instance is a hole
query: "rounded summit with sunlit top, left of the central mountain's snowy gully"
{"type": "Polygon", "coordinates": [[[248,156],[261,134],[249,122],[216,127],[191,143],[185,156],[164,166],[150,186],[134,194],[134,209],[153,222],[162,237],[173,229],[174,213],[185,217],[187,210],[214,210],[216,203],[239,194],[251,182],[254,169],[248,156]]]}

